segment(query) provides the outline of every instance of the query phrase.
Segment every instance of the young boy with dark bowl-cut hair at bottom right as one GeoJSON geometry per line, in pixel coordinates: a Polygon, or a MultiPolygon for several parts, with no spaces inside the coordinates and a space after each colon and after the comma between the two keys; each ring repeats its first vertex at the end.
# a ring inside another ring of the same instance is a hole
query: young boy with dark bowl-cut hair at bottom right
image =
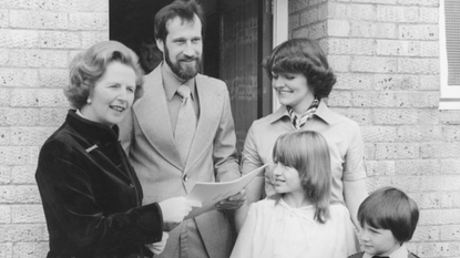
{"type": "Polygon", "coordinates": [[[416,202],[403,192],[384,187],[359,206],[361,252],[349,258],[416,258],[405,242],[412,238],[419,220],[416,202]]]}

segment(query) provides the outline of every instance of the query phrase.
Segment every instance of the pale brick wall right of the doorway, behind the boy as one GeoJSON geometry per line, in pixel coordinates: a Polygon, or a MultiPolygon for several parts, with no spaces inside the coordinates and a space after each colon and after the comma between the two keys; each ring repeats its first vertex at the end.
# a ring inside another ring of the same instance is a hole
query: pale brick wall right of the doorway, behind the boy
{"type": "Polygon", "coordinates": [[[421,215],[409,248],[460,257],[460,112],[438,111],[439,0],[289,0],[290,37],[317,39],[329,99],[357,121],[368,189],[396,186],[421,215]]]}

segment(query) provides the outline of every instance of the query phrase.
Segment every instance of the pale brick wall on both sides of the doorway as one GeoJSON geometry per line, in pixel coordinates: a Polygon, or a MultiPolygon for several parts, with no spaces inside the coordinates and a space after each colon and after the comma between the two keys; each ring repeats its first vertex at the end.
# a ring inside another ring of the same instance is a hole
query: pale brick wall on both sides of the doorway
{"type": "MultiPolygon", "coordinates": [[[[106,40],[105,0],[0,1],[0,258],[44,257],[34,169],[68,104],[68,62],[106,40]]],[[[411,250],[460,257],[460,112],[438,111],[438,0],[289,0],[292,37],[318,39],[329,104],[361,125],[368,187],[421,208],[411,250]]]]}

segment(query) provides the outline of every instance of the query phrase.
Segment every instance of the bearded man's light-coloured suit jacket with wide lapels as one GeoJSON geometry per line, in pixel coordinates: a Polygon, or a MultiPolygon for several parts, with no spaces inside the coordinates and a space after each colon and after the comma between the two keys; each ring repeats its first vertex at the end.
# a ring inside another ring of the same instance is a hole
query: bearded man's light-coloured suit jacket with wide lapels
{"type": "MultiPolygon", "coordinates": [[[[196,182],[239,177],[225,83],[201,74],[196,76],[200,117],[188,158],[183,164],[174,144],[161,66],[145,76],[143,96],[120,124],[122,145],[142,184],[143,204],[186,196],[196,182]]],[[[225,213],[212,210],[195,219],[208,255],[228,257],[234,238],[225,213]]],[[[167,257],[171,248],[178,245],[177,240],[178,233],[173,230],[162,256],[167,257]]]]}

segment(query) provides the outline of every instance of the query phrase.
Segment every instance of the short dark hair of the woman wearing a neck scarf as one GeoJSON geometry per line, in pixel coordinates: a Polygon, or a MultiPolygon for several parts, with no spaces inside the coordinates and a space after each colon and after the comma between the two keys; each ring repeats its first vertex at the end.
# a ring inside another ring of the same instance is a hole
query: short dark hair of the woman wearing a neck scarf
{"type": "Polygon", "coordinates": [[[317,97],[327,97],[336,83],[326,55],[316,41],[292,39],[276,47],[263,62],[265,71],[272,73],[301,73],[317,97]]]}

